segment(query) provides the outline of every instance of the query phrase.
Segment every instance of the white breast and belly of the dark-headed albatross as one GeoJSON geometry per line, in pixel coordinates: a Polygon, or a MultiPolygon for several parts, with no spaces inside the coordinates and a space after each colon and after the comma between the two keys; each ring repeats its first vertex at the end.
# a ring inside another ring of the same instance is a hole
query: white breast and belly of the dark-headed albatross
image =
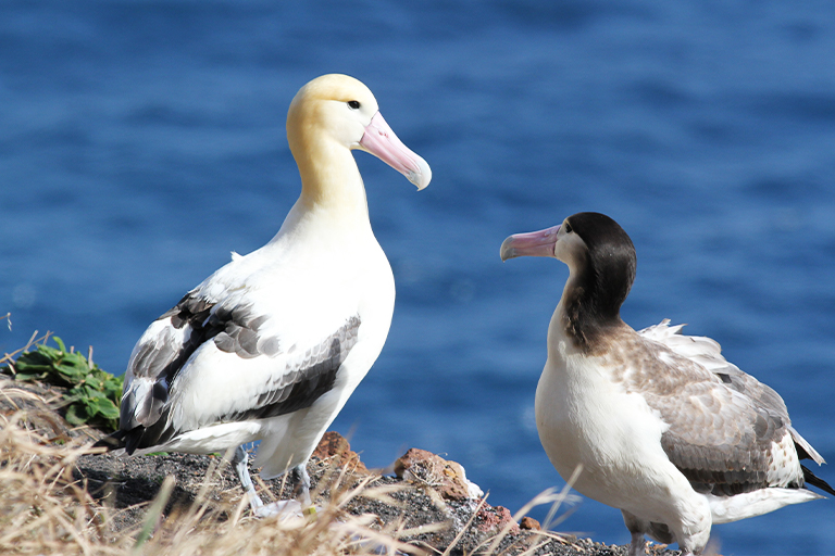
{"type": "Polygon", "coordinates": [[[661,448],[665,425],[644,399],[588,358],[569,359],[549,358],[536,390],[539,440],[560,476],[582,465],[577,492],[650,521],[668,522],[682,496],[707,507],[661,448]]]}

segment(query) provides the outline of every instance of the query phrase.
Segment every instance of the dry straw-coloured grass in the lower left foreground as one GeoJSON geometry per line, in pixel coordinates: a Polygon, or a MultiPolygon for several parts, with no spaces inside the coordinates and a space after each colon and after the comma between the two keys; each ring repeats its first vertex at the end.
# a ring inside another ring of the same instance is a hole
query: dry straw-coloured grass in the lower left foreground
{"type": "Polygon", "coordinates": [[[357,496],[388,500],[371,478],[353,488],[344,476],[329,478],[331,504],[316,519],[245,517],[241,500],[232,515],[208,503],[205,493],[219,472],[207,473],[205,488],[186,510],[165,515],[174,480],[163,481],[136,530],[116,534],[110,527],[117,510],[98,503],[86,485],[73,480],[72,468],[84,446],[57,446],[27,430],[28,417],[0,417],[0,554],[84,555],[342,555],[400,551],[419,554],[398,541],[412,531],[379,528],[376,516],[351,516],[345,507],[357,496]]]}

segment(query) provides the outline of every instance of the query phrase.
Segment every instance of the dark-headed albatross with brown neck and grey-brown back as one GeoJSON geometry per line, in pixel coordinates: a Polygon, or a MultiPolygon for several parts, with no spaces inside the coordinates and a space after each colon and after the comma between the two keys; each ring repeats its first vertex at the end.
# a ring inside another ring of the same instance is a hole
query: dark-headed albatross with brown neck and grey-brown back
{"type": "Polygon", "coordinates": [[[536,389],[539,439],[563,479],[582,466],[574,488],[622,510],[631,556],[645,534],[699,554],[712,523],[823,497],[807,483],[835,494],[800,465],[824,462],[783,399],[716,342],[621,320],[636,256],[614,220],[578,213],[504,240],[502,261],[523,255],[569,266],[536,389]]]}

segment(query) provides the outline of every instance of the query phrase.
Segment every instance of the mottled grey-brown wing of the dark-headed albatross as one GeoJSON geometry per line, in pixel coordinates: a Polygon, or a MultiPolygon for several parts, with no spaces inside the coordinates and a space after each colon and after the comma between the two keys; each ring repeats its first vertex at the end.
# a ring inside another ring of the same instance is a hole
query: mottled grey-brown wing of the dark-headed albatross
{"type": "Polygon", "coordinates": [[[624,375],[624,386],[669,426],[662,447],[694,489],[733,495],[802,485],[785,404],[773,390],[738,369],[723,379],[662,344],[634,342],[643,363],[624,375]],[[775,465],[775,446],[786,465],[775,465]]]}

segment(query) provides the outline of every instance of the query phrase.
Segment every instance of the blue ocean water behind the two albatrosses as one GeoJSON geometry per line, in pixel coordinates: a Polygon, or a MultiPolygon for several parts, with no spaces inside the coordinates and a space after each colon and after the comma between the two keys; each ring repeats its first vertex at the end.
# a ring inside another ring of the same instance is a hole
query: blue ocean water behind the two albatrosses
{"type": "MultiPolygon", "coordinates": [[[[334,425],[370,466],[446,454],[513,511],[563,484],[533,404],[568,273],[498,251],[578,211],[636,244],[627,323],[716,339],[835,462],[825,1],[4,0],[0,350],[51,330],[121,372],[152,319],[278,229],[299,190],[288,104],[332,72],[371,87],[434,176],[416,193],[357,154],[398,288],[386,348],[334,425]]],[[[820,501],[713,539],[725,555],[833,554],[833,522],[820,501]]],[[[560,529],[628,542],[589,500],[560,529]]]]}

